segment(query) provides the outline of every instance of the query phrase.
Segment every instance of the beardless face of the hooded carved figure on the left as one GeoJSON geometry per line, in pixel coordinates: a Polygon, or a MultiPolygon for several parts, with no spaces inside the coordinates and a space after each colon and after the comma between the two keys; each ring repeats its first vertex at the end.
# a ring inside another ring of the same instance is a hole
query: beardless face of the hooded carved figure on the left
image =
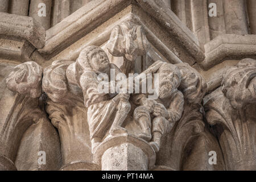
{"type": "Polygon", "coordinates": [[[91,65],[93,69],[97,71],[104,72],[106,68],[109,68],[109,59],[104,51],[98,51],[92,55],[91,65]]]}

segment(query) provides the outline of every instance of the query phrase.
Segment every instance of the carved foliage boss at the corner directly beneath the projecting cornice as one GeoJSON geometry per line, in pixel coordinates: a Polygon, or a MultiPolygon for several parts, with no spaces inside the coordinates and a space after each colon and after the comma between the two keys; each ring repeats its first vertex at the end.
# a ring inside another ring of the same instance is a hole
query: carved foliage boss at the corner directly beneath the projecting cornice
{"type": "Polygon", "coordinates": [[[113,56],[133,61],[137,56],[146,54],[149,43],[142,26],[127,21],[114,27],[107,48],[113,56]]]}

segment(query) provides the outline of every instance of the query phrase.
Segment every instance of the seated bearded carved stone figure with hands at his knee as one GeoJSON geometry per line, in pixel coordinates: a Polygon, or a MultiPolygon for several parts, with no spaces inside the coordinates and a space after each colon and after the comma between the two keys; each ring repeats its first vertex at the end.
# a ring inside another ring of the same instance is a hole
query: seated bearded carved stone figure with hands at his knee
{"type": "Polygon", "coordinates": [[[179,69],[173,64],[163,63],[157,73],[159,73],[159,98],[150,100],[146,95],[141,94],[137,96],[137,103],[141,106],[134,110],[134,119],[143,129],[139,137],[149,141],[152,130],[150,144],[156,152],[159,151],[162,135],[170,132],[174,123],[181,118],[184,105],[183,93],[177,90],[181,81],[179,69]]]}

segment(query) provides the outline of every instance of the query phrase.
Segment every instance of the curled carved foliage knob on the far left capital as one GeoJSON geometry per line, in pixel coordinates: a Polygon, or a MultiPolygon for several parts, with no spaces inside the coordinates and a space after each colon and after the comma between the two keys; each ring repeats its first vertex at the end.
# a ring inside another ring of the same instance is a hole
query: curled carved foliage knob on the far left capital
{"type": "Polygon", "coordinates": [[[42,93],[43,69],[37,63],[30,61],[19,64],[6,78],[7,88],[19,94],[29,94],[32,98],[40,97],[42,93]]]}

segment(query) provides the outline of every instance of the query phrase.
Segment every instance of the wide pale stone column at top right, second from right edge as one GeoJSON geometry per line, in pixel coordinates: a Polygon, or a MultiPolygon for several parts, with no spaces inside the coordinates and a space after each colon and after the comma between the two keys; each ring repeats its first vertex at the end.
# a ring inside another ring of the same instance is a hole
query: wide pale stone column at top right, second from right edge
{"type": "Polygon", "coordinates": [[[224,19],[227,34],[248,34],[245,2],[243,0],[223,0],[224,19]]]}

